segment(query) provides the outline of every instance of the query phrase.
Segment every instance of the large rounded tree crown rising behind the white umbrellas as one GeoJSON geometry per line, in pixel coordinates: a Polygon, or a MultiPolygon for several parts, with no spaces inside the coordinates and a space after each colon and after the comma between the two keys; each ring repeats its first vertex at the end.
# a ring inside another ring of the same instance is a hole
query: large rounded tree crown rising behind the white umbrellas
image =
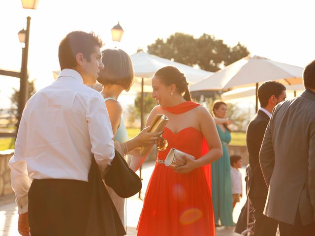
{"type": "Polygon", "coordinates": [[[204,33],[199,38],[194,38],[179,32],[170,35],[166,41],[158,38],[155,43],[148,45],[148,53],[190,66],[198,65],[201,69],[212,72],[250,54],[241,43],[229,47],[213,35],[204,33]]]}

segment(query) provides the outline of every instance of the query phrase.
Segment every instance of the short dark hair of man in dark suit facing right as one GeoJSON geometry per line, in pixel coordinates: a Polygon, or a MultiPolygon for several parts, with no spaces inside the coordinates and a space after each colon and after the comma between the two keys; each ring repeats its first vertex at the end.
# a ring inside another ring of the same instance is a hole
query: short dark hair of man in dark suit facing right
{"type": "Polygon", "coordinates": [[[258,88],[258,99],[261,107],[266,107],[268,105],[268,100],[272,95],[279,98],[282,91],[286,88],[283,84],[278,81],[266,81],[258,88]]]}

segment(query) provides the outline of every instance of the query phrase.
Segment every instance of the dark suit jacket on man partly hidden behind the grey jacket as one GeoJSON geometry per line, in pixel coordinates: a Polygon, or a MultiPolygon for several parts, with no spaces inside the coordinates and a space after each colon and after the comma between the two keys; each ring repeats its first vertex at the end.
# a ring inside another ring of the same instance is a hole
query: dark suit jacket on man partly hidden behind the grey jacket
{"type": "Polygon", "coordinates": [[[268,115],[263,111],[258,110],[249,123],[246,131],[246,144],[251,169],[251,175],[249,175],[248,180],[248,195],[250,198],[266,198],[268,193],[268,187],[259,164],[259,150],[268,122],[268,115]]]}

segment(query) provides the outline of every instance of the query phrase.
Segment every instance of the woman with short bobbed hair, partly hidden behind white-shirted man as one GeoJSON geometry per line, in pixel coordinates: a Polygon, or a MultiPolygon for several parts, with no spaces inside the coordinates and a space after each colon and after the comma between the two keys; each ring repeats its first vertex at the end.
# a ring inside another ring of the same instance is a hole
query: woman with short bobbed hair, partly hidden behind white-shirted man
{"type": "MultiPolygon", "coordinates": [[[[130,57],[120,49],[106,49],[102,52],[102,62],[104,69],[99,73],[97,81],[102,85],[101,94],[107,107],[108,115],[113,129],[115,148],[126,158],[126,154],[133,154],[128,165],[133,171],[138,168],[139,160],[132,161],[133,158],[141,159],[139,149],[145,146],[152,146],[158,139],[160,133],[148,133],[147,128],[143,129],[136,137],[129,140],[122,113],[123,108],[117,101],[123,90],[128,91],[133,83],[133,66],[130,57]],[[136,164],[135,164],[136,163],[136,164]]],[[[140,161],[141,162],[141,161],[140,161]]],[[[112,188],[106,186],[107,191],[117,209],[117,212],[125,222],[125,199],[119,197],[112,188]]]]}

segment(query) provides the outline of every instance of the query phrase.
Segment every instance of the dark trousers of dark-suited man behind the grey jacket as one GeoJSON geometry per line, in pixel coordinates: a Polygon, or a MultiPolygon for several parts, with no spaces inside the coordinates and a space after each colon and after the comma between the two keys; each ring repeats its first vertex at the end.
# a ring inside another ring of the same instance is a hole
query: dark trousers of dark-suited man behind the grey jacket
{"type": "Polygon", "coordinates": [[[250,198],[254,208],[254,236],[276,236],[278,221],[265,216],[265,198],[250,198]]]}

